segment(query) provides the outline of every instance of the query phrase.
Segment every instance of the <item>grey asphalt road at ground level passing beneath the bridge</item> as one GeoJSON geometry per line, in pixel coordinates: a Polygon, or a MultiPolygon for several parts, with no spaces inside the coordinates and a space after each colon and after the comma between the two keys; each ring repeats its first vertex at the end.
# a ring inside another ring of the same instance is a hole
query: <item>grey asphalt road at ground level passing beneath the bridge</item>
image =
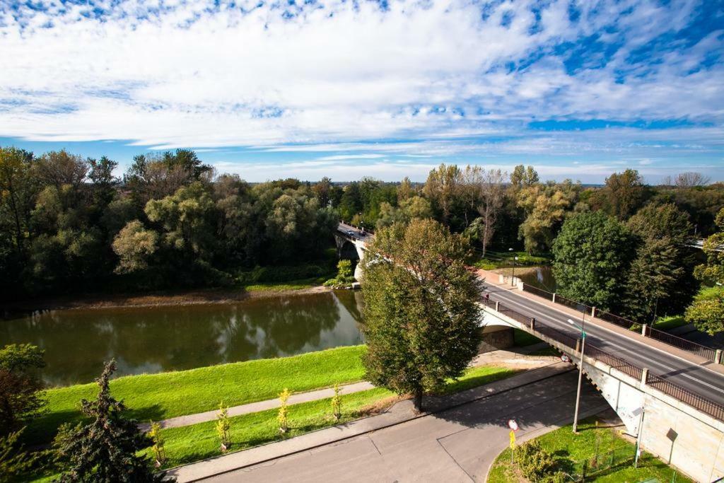
{"type": "MultiPolygon", "coordinates": [[[[484,482],[508,446],[508,419],[519,442],[570,424],[576,371],[568,371],[434,415],[256,466],[213,476],[213,482],[484,482]]],[[[586,382],[581,411],[607,404],[586,382]]]]}

